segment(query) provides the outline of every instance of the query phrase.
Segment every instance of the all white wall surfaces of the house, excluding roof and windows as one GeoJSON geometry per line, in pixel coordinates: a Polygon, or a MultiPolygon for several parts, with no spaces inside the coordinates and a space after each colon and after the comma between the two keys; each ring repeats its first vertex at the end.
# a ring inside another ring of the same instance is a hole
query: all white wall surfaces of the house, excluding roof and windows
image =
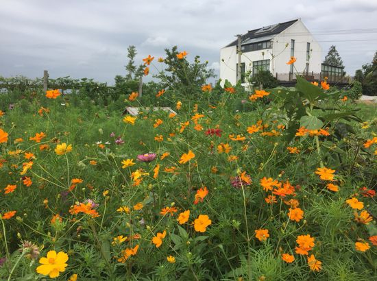
{"type": "MultiPolygon", "coordinates": [[[[306,29],[302,21],[293,23],[284,32],[273,37],[273,46],[271,49],[263,49],[258,51],[250,51],[242,53],[241,63],[245,63],[245,71],[252,69],[252,62],[257,60],[270,60],[271,73],[276,77],[278,73],[279,80],[289,80],[290,66],[287,64],[291,58],[291,39],[295,40],[295,53],[297,59],[295,69],[302,73],[306,67],[306,43],[310,42],[311,56],[309,59],[309,75],[321,72],[321,46],[306,29]],[[286,47],[286,45],[288,46],[286,47]]],[[[236,84],[236,64],[238,56],[236,46],[225,47],[220,51],[220,79],[221,86],[225,80],[236,84]]],[[[293,76],[294,78],[294,76],[293,76]]]]}

